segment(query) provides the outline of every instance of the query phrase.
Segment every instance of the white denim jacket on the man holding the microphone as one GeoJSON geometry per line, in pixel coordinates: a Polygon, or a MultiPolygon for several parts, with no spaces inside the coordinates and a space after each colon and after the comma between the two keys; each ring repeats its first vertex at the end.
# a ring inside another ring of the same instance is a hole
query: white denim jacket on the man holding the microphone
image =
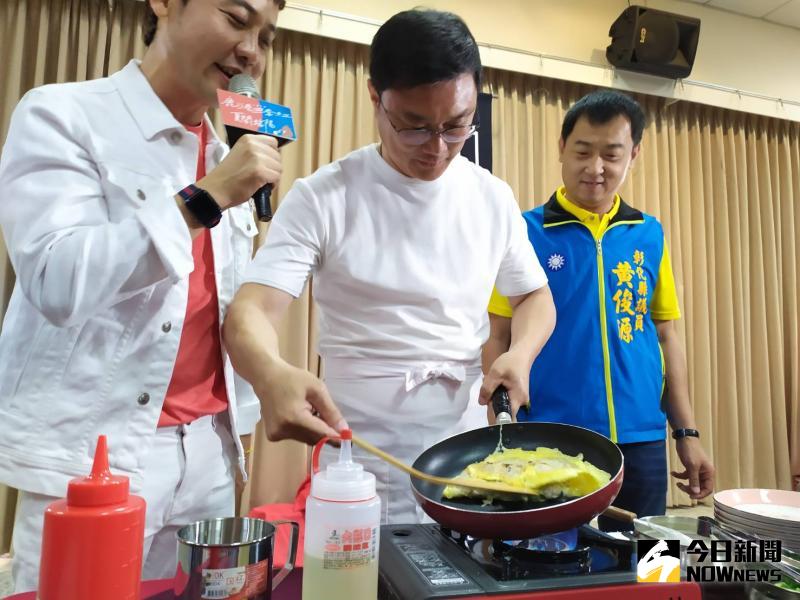
{"type": "MultiPolygon", "coordinates": [[[[208,171],[226,150],[210,136],[208,171]]],[[[136,61],[20,101],[0,157],[0,225],[17,276],[0,332],[0,481],[61,496],[106,434],[112,470],[140,488],[194,269],[174,195],[195,181],[197,153],[136,61]]],[[[211,230],[220,322],[255,235],[247,204],[211,230]]],[[[237,434],[252,431],[259,407],[223,360],[242,467],[237,434]]]]}

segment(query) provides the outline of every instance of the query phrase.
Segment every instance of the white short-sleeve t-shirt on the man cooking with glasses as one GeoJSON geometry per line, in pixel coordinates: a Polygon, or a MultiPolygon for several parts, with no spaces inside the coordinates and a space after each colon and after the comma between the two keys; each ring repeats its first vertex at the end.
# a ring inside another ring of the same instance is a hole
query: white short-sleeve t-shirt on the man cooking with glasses
{"type": "Polygon", "coordinates": [[[245,281],[297,297],[309,275],[319,352],[339,358],[474,360],[492,286],[547,283],[506,183],[462,156],[412,179],[377,145],[295,182],[245,281]]]}

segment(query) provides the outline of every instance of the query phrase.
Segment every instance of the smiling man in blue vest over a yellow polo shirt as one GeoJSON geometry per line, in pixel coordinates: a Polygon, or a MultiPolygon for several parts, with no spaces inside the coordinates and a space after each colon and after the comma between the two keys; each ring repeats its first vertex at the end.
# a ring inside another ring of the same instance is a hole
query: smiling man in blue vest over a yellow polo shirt
{"type": "MultiPolygon", "coordinates": [[[[666,421],[691,498],[713,489],[714,467],[689,402],[680,318],[661,223],[617,191],[641,148],[645,116],[624,94],[598,91],[567,112],[559,154],[564,185],[524,213],[557,310],[555,331],[530,371],[529,408],[519,420],[592,429],[619,444],[625,477],[615,505],[639,516],[666,510],[666,421]]],[[[484,364],[508,349],[511,307],[493,294],[484,364]]],[[[482,394],[528,373],[510,366],[487,376],[482,394]]],[[[601,528],[623,523],[601,517],[601,528]]]]}

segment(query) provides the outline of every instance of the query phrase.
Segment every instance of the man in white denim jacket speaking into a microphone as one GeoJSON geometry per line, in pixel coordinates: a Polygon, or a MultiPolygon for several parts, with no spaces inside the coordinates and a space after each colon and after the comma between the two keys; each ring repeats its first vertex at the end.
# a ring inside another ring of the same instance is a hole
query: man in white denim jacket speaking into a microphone
{"type": "Polygon", "coordinates": [[[179,526],[234,512],[258,405],[220,323],[252,253],[247,201],[281,164],[266,136],[225,156],[205,113],[234,74],[263,73],[283,4],[149,0],[141,63],[34,89],[14,113],[0,481],[21,490],[17,591],[36,587],[44,510],[89,472],[99,434],[147,502],[145,579],[174,574],[179,526]]]}

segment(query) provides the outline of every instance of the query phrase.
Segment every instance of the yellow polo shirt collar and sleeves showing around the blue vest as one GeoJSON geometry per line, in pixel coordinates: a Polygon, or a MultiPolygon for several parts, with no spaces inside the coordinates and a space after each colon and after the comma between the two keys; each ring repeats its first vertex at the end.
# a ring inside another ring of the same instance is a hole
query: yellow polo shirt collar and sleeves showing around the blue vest
{"type": "MultiPolygon", "coordinates": [[[[605,233],[609,222],[619,210],[618,194],[614,196],[614,204],[611,206],[611,210],[604,215],[598,215],[568,200],[564,194],[564,186],[561,186],[556,191],[556,201],[564,210],[586,225],[595,240],[600,239],[605,233]]],[[[492,290],[492,297],[489,300],[489,312],[501,317],[511,317],[513,314],[508,298],[498,293],[497,289],[492,290]]],[[[661,264],[658,266],[656,289],[653,291],[653,297],[650,300],[650,316],[654,321],[673,321],[681,318],[681,311],[678,307],[678,294],[675,291],[675,277],[672,274],[672,263],[669,259],[669,248],[667,247],[666,239],[664,240],[661,264]]]]}

